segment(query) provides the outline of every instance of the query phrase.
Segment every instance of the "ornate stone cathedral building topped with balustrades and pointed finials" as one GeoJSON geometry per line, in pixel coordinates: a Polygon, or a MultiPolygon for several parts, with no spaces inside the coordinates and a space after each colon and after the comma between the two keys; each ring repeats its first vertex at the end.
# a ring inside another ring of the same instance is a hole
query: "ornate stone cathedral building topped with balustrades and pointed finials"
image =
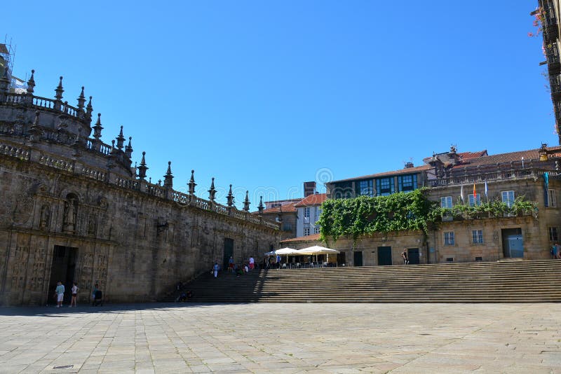
{"type": "MultiPolygon", "coordinates": [[[[51,300],[55,283],[77,282],[86,301],[95,284],[113,302],[157,300],[178,281],[229,256],[243,261],[280,241],[279,224],[243,209],[147,181],[147,162],[131,167],[123,128],[104,143],[100,114],[82,88],[77,106],[9,89],[0,78],[0,305],[51,300]],[[93,121],[94,120],[94,121],[93,121]],[[94,123],[92,126],[91,124],[94,123]]],[[[209,181],[210,182],[210,181],[209,181]]],[[[231,187],[231,186],[230,186],[231,187]]],[[[69,293],[67,292],[67,295],[69,293]]]]}

